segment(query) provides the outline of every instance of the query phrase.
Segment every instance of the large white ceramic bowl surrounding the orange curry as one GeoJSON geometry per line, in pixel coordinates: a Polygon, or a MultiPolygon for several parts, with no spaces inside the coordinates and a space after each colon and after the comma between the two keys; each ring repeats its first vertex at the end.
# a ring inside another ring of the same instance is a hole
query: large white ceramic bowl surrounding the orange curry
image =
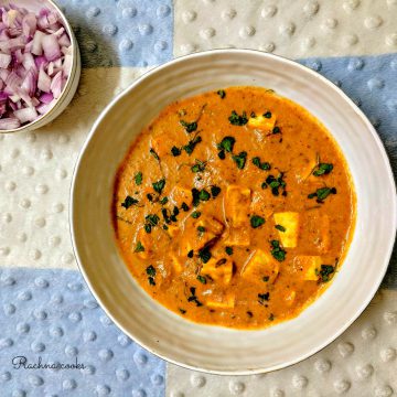
{"type": "Polygon", "coordinates": [[[375,294],[396,234],[390,164],[363,112],[318,73],[289,60],[245,50],[176,58],[147,73],[114,99],[84,144],[71,203],[75,254],[108,315],[150,352],[215,374],[282,368],[335,340],[375,294]],[[354,237],[330,288],[296,319],[259,331],[196,324],[157,303],[127,270],[115,243],[110,215],[116,170],[140,130],[176,99],[236,85],[273,88],[320,119],[340,144],[357,193],[354,237]]]}

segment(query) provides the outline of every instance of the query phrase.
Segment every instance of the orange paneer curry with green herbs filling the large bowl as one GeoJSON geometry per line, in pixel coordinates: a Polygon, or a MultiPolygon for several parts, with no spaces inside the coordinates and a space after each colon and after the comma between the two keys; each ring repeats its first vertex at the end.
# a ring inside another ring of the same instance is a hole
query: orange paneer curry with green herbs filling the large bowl
{"type": "Polygon", "coordinates": [[[347,164],[307,110],[259,87],[169,105],[120,165],[112,204],[129,270],[185,319],[259,329],[294,318],[348,248],[347,164]]]}

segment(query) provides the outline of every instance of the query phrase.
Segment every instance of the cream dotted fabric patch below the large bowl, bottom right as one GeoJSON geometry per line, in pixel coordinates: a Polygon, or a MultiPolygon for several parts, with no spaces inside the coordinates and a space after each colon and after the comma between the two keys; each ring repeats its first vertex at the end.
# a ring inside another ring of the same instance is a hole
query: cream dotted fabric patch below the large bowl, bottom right
{"type": "Polygon", "coordinates": [[[264,375],[216,376],[168,365],[168,396],[384,397],[397,390],[397,292],[380,290],[363,315],[312,357],[264,375]]]}

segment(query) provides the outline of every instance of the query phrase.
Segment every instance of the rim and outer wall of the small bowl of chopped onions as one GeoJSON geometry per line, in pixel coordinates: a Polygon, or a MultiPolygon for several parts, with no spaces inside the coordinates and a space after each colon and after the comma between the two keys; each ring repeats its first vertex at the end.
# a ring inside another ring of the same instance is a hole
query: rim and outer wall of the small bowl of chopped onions
{"type": "MultiPolygon", "coordinates": [[[[43,127],[45,126],[47,122],[52,121],[52,114],[57,110],[60,104],[62,103],[62,100],[67,97],[68,93],[72,89],[73,86],[73,82],[76,78],[76,75],[79,76],[78,73],[78,64],[79,61],[77,58],[79,58],[79,49],[78,49],[78,42],[76,36],[74,35],[73,29],[71,23],[68,22],[67,18],[65,17],[65,14],[62,12],[60,6],[57,6],[55,3],[55,1],[53,0],[41,0],[46,2],[51,8],[55,9],[55,11],[61,15],[62,18],[62,22],[64,24],[64,28],[71,39],[71,46],[72,46],[72,69],[69,75],[67,76],[66,79],[66,84],[64,86],[64,89],[62,90],[60,97],[56,100],[56,104],[44,115],[41,115],[40,117],[37,117],[34,121],[29,122],[24,126],[14,128],[14,129],[10,129],[10,130],[0,130],[0,133],[13,133],[13,132],[21,132],[21,131],[31,131],[33,129],[36,129],[39,127],[43,127]],[[50,116],[50,117],[49,117],[50,116]],[[49,120],[45,121],[45,118],[49,117],[49,120]],[[37,124],[41,124],[41,126],[37,126],[37,124]]],[[[43,4],[43,7],[46,7],[46,4],[43,4]]]]}

